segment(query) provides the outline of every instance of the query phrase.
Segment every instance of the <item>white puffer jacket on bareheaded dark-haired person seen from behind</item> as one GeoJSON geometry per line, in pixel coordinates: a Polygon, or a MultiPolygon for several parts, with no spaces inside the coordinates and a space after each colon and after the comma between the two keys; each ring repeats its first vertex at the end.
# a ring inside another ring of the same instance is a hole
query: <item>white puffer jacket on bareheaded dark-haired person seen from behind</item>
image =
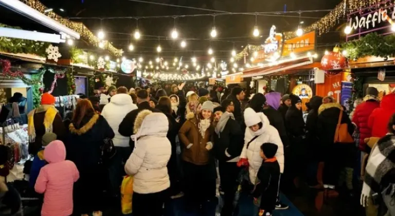
{"type": "Polygon", "coordinates": [[[101,115],[109,122],[115,137],[114,146],[129,147],[129,137],[122,136],[118,132],[119,124],[123,118],[132,110],[136,110],[137,105],[133,103],[132,97],[128,94],[118,94],[111,97],[109,104],[106,104],[101,115]]]}

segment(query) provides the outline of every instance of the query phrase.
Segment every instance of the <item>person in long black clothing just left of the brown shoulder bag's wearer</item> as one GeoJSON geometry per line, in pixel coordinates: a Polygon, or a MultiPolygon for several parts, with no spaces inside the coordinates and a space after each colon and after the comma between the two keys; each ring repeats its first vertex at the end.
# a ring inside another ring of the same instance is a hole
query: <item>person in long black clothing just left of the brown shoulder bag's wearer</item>
{"type": "Polygon", "coordinates": [[[317,121],[318,121],[318,109],[322,104],[322,97],[313,96],[306,105],[309,105],[310,111],[307,115],[306,120],[306,142],[307,142],[307,156],[308,156],[308,173],[307,173],[307,184],[311,187],[321,187],[317,182],[317,170],[318,163],[322,161],[322,148],[319,142],[317,121]]]}

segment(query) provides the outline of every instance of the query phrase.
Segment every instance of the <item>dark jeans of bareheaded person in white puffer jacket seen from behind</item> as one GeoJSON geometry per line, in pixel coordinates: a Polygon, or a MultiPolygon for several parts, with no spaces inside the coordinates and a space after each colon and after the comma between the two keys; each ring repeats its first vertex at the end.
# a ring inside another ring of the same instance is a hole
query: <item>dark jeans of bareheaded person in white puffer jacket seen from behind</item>
{"type": "Polygon", "coordinates": [[[111,193],[113,196],[120,196],[120,187],[122,184],[122,177],[125,173],[125,163],[131,155],[132,151],[130,147],[115,147],[117,153],[111,160],[109,167],[111,193]]]}

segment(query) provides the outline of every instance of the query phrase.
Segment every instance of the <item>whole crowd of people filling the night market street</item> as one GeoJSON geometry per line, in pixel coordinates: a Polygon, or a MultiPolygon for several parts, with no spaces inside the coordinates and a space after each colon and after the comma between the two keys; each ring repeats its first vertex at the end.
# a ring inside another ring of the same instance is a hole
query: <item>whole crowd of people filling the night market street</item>
{"type": "Polygon", "coordinates": [[[30,187],[44,193],[44,216],[99,216],[103,191],[120,205],[129,175],[133,215],[163,215],[178,197],[185,211],[213,215],[207,206],[217,199],[219,177],[222,216],[234,215],[240,192],[252,195],[259,215],[271,215],[288,208],[280,188],[295,190],[304,179],[328,197],[352,197],[361,177],[369,212],[379,211],[376,193],[395,215],[395,94],[380,101],[377,89],[366,92],[350,115],[334,98],[313,96],[306,120],[299,96],[271,91],[247,98],[240,86],[111,86],[100,98],[81,95],[63,120],[55,98],[44,93],[28,115],[30,187]],[[103,158],[109,140],[116,150],[110,159],[103,158]]]}

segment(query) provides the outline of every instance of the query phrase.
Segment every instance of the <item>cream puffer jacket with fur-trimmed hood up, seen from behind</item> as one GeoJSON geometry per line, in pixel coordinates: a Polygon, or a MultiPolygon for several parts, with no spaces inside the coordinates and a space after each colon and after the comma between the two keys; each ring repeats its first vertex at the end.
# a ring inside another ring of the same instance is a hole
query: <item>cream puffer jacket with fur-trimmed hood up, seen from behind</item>
{"type": "Polygon", "coordinates": [[[156,193],[170,187],[167,163],[171,144],[166,138],[169,121],[163,113],[141,111],[135,120],[131,136],[135,140],[133,153],[125,164],[125,172],[134,176],[133,191],[156,193]]]}

